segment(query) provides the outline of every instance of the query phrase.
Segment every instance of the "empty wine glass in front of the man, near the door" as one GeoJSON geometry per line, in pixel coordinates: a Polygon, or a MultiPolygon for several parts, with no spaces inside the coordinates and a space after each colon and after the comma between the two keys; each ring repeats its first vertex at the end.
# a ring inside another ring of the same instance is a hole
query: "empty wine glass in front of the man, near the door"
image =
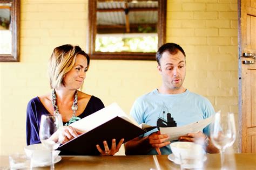
{"type": "Polygon", "coordinates": [[[234,114],[228,112],[220,114],[217,112],[211,124],[211,140],[215,147],[220,151],[221,167],[224,165],[224,152],[227,147],[233,145],[235,141],[235,122],[234,114]]]}

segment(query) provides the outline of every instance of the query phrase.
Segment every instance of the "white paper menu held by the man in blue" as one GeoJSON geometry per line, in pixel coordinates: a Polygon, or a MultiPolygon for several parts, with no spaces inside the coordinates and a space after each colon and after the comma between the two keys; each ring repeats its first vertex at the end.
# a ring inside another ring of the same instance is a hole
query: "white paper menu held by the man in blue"
{"type": "Polygon", "coordinates": [[[206,119],[203,119],[198,122],[194,122],[188,125],[184,126],[178,126],[178,127],[167,127],[167,128],[161,128],[160,127],[160,132],[161,134],[168,134],[169,136],[169,141],[172,140],[178,140],[180,136],[186,136],[187,133],[197,133],[201,130],[203,130],[207,125],[209,125],[212,122],[212,118],[208,117],[206,119]]]}

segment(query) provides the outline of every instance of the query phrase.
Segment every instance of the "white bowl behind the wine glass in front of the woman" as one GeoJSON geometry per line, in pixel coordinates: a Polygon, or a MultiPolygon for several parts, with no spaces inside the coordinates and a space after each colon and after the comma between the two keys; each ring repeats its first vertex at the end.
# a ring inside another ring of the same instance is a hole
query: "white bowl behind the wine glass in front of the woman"
{"type": "MultiPolygon", "coordinates": [[[[44,147],[43,144],[33,144],[24,147],[25,153],[31,157],[33,164],[41,164],[51,162],[51,151],[44,147]]],[[[54,160],[60,151],[53,151],[54,160]]]]}

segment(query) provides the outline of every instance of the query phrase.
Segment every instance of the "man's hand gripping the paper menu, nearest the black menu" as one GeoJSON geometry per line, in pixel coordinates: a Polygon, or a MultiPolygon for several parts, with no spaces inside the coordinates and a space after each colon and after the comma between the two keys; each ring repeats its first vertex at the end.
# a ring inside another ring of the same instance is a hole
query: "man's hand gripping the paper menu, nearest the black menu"
{"type": "Polygon", "coordinates": [[[166,141],[168,139],[167,134],[160,134],[160,131],[151,133],[149,135],[149,143],[153,148],[156,148],[156,151],[159,155],[161,155],[160,147],[164,147],[170,144],[170,141],[166,141]]]}

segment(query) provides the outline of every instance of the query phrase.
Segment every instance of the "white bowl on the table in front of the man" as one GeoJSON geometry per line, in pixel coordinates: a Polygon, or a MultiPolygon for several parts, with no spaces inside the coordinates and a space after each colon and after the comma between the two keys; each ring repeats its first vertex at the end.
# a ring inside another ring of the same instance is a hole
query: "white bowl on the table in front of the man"
{"type": "Polygon", "coordinates": [[[187,157],[198,157],[205,152],[201,145],[188,141],[177,141],[171,143],[170,147],[175,159],[177,160],[180,160],[180,155],[185,155],[187,157]]]}

